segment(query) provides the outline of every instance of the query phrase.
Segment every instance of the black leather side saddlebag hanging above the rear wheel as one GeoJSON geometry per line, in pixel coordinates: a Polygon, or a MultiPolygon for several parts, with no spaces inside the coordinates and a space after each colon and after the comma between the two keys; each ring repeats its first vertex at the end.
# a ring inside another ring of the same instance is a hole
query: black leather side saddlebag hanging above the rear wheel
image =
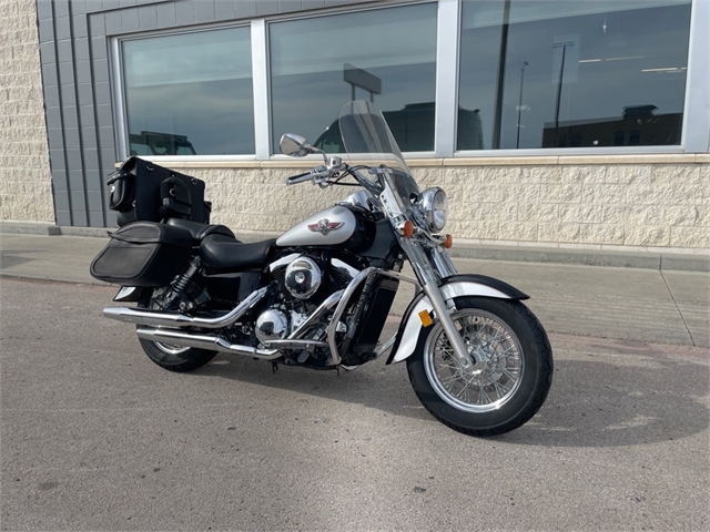
{"type": "Polygon", "coordinates": [[[191,247],[186,229],[135,222],[111,233],[111,241],[91,263],[91,275],[123,286],[165,286],[184,266],[191,247]]]}

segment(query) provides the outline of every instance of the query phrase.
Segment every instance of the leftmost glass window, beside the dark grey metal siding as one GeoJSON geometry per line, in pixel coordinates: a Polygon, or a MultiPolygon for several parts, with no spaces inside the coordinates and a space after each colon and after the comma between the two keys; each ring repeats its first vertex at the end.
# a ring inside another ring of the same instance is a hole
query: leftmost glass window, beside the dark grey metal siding
{"type": "Polygon", "coordinates": [[[122,42],[131,155],[253,154],[248,28],[122,42]]]}

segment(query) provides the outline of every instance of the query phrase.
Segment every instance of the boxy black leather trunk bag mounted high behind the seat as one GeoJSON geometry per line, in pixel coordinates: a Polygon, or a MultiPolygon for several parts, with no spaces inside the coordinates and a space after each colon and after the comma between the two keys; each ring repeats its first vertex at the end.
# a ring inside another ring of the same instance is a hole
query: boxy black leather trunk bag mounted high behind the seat
{"type": "Polygon", "coordinates": [[[130,157],[106,177],[109,207],[119,226],[136,221],[182,218],[210,223],[204,181],[139,157],[130,157]]]}

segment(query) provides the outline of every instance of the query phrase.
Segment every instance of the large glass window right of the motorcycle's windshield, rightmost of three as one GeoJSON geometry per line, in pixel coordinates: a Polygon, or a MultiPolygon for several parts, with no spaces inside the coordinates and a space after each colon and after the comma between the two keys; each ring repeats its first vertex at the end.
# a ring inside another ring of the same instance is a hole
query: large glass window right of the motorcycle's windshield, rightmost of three
{"type": "Polygon", "coordinates": [[[689,31],[690,0],[464,0],[457,149],[680,144],[689,31]]]}

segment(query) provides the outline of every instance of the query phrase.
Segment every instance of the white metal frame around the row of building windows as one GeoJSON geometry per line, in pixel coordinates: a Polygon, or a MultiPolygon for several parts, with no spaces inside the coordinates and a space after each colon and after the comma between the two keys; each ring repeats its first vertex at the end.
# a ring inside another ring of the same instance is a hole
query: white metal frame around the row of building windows
{"type": "MultiPolygon", "coordinates": [[[[274,22],[303,20],[346,14],[353,12],[375,11],[395,7],[419,3],[437,3],[437,45],[435,101],[436,115],[434,129],[434,150],[427,152],[406,152],[407,158],[509,158],[509,157],[557,157],[557,156],[595,156],[595,155],[645,155],[645,154],[687,154],[710,152],[710,95],[707,88],[710,83],[710,3],[691,0],[688,72],[683,105],[683,126],[679,145],[660,146],[602,146],[602,147],[538,147],[506,150],[456,150],[460,23],[463,0],[416,0],[365,2],[357,6],[339,6],[314,11],[294,11],[290,13],[235,20],[232,22],[214,22],[195,24],[190,28],[161,29],[125,33],[110,38],[110,72],[115,127],[115,143],[119,158],[129,155],[128,150],[128,109],[125,105],[123,58],[121,43],[126,40],[151,39],[155,37],[189,34],[229,28],[250,28],[252,49],[252,80],[254,93],[254,141],[255,153],[242,155],[161,155],[151,158],[180,162],[247,162],[247,161],[293,161],[292,157],[278,153],[278,146],[272,146],[271,121],[271,64],[268,50],[268,25],[274,22]],[[455,31],[452,31],[455,29],[455,31]],[[701,112],[704,110],[704,112],[701,112]],[[694,112],[692,112],[694,111],[694,112]]],[[[321,158],[310,155],[307,158],[321,158]]]]}

